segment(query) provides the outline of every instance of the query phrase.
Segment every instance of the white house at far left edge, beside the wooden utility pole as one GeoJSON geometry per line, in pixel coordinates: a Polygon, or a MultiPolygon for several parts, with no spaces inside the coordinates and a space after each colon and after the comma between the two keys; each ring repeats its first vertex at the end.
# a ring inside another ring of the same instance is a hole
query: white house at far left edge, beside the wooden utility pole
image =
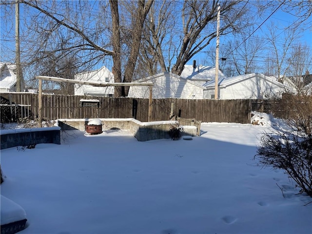
{"type": "Polygon", "coordinates": [[[15,92],[16,65],[0,62],[0,92],[15,92]]]}

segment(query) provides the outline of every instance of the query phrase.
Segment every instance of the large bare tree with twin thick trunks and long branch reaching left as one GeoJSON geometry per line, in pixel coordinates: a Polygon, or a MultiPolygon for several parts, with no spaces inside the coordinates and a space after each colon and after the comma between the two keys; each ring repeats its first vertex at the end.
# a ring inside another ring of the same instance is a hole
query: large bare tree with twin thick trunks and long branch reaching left
{"type": "MultiPolygon", "coordinates": [[[[128,1],[128,4],[135,6],[131,12],[134,23],[132,33],[127,38],[131,41],[128,43],[129,53],[122,55],[121,48],[126,44],[122,43],[120,37],[123,27],[119,21],[119,1],[109,1],[107,4],[105,1],[20,0],[24,6],[38,10],[36,14],[32,10],[31,22],[28,21],[28,48],[24,47],[24,53],[27,51],[24,59],[38,62],[42,59],[37,56],[42,54],[40,52],[51,51],[63,56],[75,55],[80,59],[81,66],[87,69],[102,63],[105,57],[112,57],[116,82],[131,82],[143,24],[152,2],[153,0],[128,1]],[[112,15],[112,19],[107,17],[109,15],[112,15]],[[122,57],[127,58],[123,77],[120,62],[122,57]]],[[[12,2],[6,1],[5,4],[12,2]]],[[[116,96],[126,96],[127,92],[127,89],[124,92],[117,90],[116,96]]]]}

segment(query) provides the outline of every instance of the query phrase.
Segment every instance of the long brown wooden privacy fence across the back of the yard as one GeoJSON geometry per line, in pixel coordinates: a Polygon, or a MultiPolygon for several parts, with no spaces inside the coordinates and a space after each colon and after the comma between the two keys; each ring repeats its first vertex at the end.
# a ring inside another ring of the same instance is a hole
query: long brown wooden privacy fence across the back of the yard
{"type": "MultiPolygon", "coordinates": [[[[38,117],[38,94],[1,93],[1,123],[16,122],[20,117],[38,117]]],[[[173,114],[202,122],[251,122],[251,101],[211,99],[153,99],[153,121],[169,120],[173,114]]],[[[106,98],[73,95],[42,95],[42,117],[59,118],[128,118],[148,121],[149,99],[106,98]],[[98,100],[99,105],[85,106],[81,99],[98,100]]]]}

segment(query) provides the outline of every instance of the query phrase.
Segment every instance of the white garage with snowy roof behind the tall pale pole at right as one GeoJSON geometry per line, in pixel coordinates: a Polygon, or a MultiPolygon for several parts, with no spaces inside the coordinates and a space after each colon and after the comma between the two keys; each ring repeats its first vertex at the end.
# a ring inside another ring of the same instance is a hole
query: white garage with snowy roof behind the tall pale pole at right
{"type": "MultiPolygon", "coordinates": [[[[215,80],[204,84],[204,98],[215,98],[215,80]]],[[[275,78],[253,73],[218,79],[218,99],[266,99],[281,95],[284,85],[275,78]]]]}

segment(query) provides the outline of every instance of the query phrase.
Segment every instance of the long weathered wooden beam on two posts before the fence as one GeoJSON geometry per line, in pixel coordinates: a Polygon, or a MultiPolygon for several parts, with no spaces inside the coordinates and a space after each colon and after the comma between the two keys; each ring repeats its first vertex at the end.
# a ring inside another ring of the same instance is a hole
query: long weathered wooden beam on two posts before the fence
{"type": "Polygon", "coordinates": [[[140,82],[140,83],[96,83],[96,82],[89,82],[89,81],[82,81],[82,80],[75,80],[75,79],[65,79],[65,78],[58,78],[58,77],[46,77],[46,76],[38,76],[36,79],[39,79],[39,123],[40,126],[42,124],[42,80],[50,80],[50,81],[57,81],[57,82],[65,82],[65,83],[74,83],[74,84],[83,84],[83,85],[91,85],[94,87],[115,87],[115,86],[149,86],[150,87],[150,96],[149,96],[149,104],[148,104],[148,121],[152,121],[152,101],[153,101],[153,85],[152,82],[140,82]]]}

